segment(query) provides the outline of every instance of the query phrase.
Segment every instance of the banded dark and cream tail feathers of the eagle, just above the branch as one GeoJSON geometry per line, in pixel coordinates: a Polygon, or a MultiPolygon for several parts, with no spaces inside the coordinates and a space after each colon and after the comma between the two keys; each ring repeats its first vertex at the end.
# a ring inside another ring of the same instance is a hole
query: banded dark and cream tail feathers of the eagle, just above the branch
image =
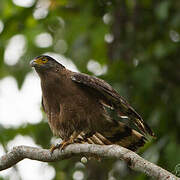
{"type": "Polygon", "coordinates": [[[132,151],[136,151],[146,141],[146,138],[142,134],[122,122],[118,122],[116,126],[110,127],[108,131],[89,134],[82,132],[79,138],[81,139],[81,143],[100,145],[117,144],[132,151]]]}

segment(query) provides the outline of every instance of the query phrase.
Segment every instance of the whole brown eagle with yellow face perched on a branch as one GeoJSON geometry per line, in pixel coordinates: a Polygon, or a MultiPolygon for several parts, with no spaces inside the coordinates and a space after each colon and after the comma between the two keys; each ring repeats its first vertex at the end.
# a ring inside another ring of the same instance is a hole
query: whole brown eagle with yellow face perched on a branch
{"type": "Polygon", "coordinates": [[[52,152],[76,142],[118,144],[136,151],[146,135],[154,137],[141,116],[104,80],[72,72],[46,55],[30,64],[41,79],[49,126],[63,140],[52,152]]]}

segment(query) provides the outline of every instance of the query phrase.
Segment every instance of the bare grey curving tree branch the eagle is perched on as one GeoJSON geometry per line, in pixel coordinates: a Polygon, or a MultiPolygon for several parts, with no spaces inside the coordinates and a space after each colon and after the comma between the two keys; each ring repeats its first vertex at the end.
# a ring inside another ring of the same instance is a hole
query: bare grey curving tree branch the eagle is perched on
{"type": "Polygon", "coordinates": [[[180,180],[180,178],[161,167],[148,162],[136,153],[117,145],[100,146],[92,144],[72,144],[67,146],[62,152],[60,150],[55,150],[52,155],[47,149],[29,146],[16,146],[10,152],[0,157],[0,171],[10,168],[25,158],[44,162],[54,162],[73,156],[92,155],[124,160],[131,169],[143,172],[148,176],[157,179],[180,180]]]}

